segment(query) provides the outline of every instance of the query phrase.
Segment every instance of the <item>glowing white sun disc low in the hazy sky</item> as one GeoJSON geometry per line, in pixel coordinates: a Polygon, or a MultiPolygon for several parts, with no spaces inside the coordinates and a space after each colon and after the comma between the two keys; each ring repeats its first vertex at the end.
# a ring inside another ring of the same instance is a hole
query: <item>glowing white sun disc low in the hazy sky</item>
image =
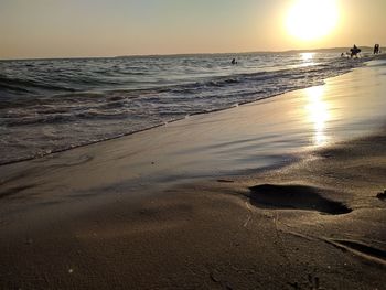
{"type": "Polygon", "coordinates": [[[336,0],[297,0],[287,17],[287,30],[297,39],[321,39],[337,23],[336,0]]]}

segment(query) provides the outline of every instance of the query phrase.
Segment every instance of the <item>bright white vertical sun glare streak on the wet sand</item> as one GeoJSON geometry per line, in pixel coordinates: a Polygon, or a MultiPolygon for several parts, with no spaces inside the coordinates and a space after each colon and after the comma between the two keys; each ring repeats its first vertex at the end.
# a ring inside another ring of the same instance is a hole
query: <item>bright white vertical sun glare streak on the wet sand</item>
{"type": "Polygon", "coordinates": [[[313,143],[315,146],[323,146],[328,142],[325,127],[326,122],[330,120],[329,106],[323,99],[324,86],[307,88],[305,94],[308,97],[305,110],[309,121],[313,123],[314,129],[313,143]]]}

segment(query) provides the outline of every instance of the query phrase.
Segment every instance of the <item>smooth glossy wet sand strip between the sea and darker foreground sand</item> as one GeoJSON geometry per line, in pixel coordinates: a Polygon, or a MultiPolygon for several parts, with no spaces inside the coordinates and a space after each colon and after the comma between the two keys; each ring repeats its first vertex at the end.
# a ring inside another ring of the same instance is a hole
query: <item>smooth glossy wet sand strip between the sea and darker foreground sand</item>
{"type": "MultiPolygon", "coordinates": [[[[57,196],[64,192],[75,197],[142,194],[193,180],[232,180],[232,175],[280,168],[299,158],[313,158],[314,149],[384,127],[386,61],[368,62],[325,83],[3,165],[1,179],[4,184],[40,184],[43,192],[57,196]]],[[[11,186],[11,193],[19,185],[11,186]]]]}

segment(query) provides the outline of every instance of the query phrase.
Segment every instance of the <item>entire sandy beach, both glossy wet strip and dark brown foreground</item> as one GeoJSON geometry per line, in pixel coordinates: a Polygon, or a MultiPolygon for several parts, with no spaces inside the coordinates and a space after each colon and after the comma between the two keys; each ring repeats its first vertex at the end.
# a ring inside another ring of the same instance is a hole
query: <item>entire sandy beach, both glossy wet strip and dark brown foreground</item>
{"type": "Polygon", "coordinates": [[[0,168],[0,289],[384,289],[384,60],[0,168]]]}

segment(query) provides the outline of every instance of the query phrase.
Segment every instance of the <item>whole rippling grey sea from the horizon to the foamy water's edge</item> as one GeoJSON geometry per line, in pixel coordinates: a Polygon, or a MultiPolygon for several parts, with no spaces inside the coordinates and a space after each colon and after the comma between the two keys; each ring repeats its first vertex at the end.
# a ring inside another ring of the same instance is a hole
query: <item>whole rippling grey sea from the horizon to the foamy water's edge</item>
{"type": "Polygon", "coordinates": [[[336,51],[0,61],[0,164],[321,85],[365,61],[336,51]]]}

